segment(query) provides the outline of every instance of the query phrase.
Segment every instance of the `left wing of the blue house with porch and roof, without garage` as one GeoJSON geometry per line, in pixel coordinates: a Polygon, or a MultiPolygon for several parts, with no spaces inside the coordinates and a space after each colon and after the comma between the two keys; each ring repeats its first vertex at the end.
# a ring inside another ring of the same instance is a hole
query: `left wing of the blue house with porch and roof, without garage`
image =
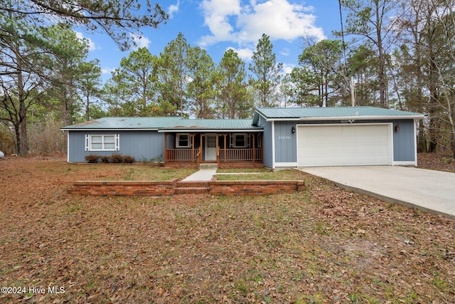
{"type": "Polygon", "coordinates": [[[85,162],[87,154],[119,153],[173,167],[263,167],[262,127],[251,122],[105,117],[61,130],[68,132],[68,162],[85,162]]]}

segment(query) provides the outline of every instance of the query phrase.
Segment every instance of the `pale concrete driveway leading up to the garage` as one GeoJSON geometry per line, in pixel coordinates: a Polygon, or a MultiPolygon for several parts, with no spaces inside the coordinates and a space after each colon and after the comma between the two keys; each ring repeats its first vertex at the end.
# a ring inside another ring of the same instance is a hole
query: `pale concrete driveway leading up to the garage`
{"type": "Polygon", "coordinates": [[[455,173],[399,166],[299,169],[343,189],[455,219],[455,173]]]}

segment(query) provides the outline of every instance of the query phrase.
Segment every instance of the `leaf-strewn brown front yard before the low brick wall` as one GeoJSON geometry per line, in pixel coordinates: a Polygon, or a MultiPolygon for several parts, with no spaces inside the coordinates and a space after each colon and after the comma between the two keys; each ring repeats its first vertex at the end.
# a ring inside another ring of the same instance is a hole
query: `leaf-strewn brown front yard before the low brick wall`
{"type": "Polygon", "coordinates": [[[27,288],[0,303],[455,303],[453,220],[303,172],[296,194],[71,196],[118,172],[64,160],[0,161],[0,285],[27,288]]]}

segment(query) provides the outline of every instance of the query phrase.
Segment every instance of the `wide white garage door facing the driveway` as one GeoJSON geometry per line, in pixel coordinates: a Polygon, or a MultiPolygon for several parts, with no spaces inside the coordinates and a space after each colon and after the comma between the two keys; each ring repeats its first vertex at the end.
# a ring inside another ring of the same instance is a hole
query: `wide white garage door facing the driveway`
{"type": "Polygon", "coordinates": [[[301,125],[299,167],[392,164],[392,126],[301,125]]]}

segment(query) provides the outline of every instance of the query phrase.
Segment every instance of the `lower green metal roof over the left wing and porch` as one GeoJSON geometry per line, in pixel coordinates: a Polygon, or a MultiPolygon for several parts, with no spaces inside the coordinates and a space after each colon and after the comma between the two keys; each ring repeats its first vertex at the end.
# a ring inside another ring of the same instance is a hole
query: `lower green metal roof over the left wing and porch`
{"type": "Polygon", "coordinates": [[[262,130],[252,120],[202,120],[181,117],[104,117],[62,127],[61,130],[262,130]]]}

